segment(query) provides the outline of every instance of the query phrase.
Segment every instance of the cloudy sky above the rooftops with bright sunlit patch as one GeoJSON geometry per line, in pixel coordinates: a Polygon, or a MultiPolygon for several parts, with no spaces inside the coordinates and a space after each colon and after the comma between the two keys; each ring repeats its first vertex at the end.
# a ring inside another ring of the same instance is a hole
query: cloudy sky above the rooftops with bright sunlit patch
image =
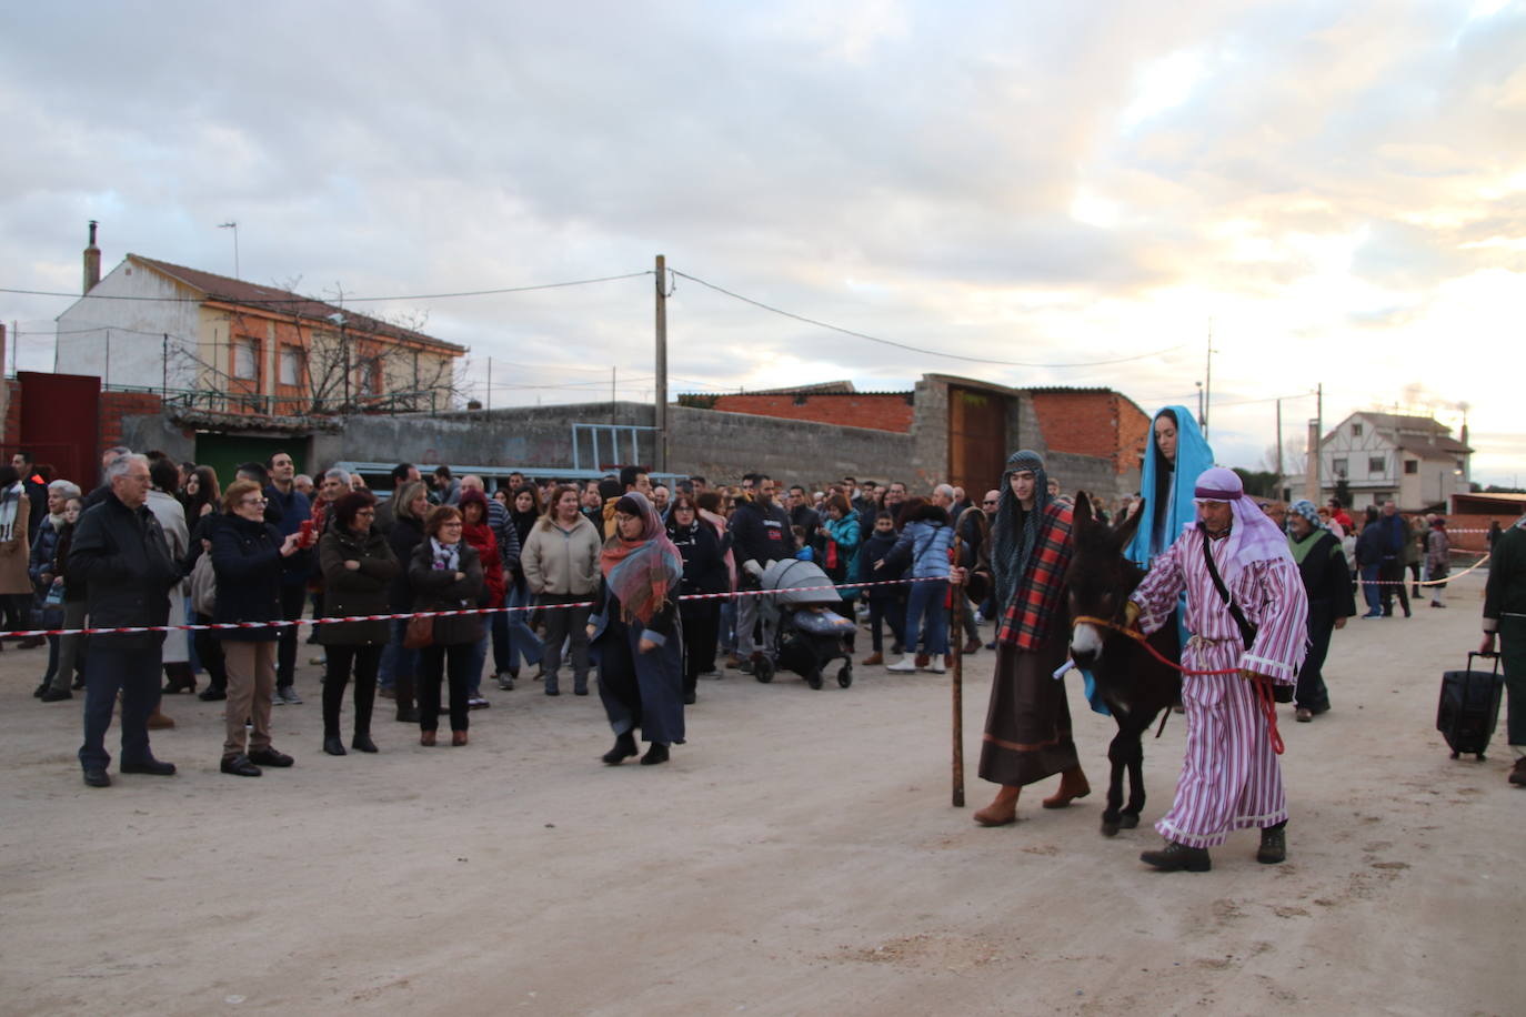
{"type": "MultiPolygon", "coordinates": [[[[407,297],[491,401],[925,372],[1370,407],[1526,482],[1526,3],[76,3],[0,38],[0,287],[127,252],[407,297]],[[702,285],[900,346],[772,314],[702,285]],[[1148,355],[1146,355],[1148,354],[1148,355]],[[1141,355],[1146,355],[1141,358],[1141,355]],[[1132,358],[1132,360],[1128,360],[1132,358]],[[984,361],[984,363],[983,363],[984,361]],[[1001,363],[993,363],[1001,361],[1001,363]],[[1022,364],[1022,366],[1016,366],[1022,364]]],[[[66,299],[0,293],[52,369],[66,299]]],[[[359,306],[359,305],[357,305],[359,306]]]]}

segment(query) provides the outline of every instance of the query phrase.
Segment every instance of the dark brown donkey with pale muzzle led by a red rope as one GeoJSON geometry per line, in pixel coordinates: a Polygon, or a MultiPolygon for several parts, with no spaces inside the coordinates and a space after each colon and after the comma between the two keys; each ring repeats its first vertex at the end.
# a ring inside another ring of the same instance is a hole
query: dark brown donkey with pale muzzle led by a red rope
{"type": "MultiPolygon", "coordinates": [[[[1144,578],[1144,572],[1123,557],[1140,515],[1135,512],[1109,529],[1091,517],[1091,500],[1087,494],[1076,494],[1071,525],[1074,550],[1070,569],[1065,572],[1071,618],[1102,618],[1123,625],[1123,605],[1144,578]]],[[[1149,637],[1149,645],[1167,660],[1181,659],[1180,643],[1177,625],[1172,622],[1149,637]]],[[[1181,703],[1181,674],[1152,657],[1138,640],[1091,622],[1073,624],[1070,657],[1076,666],[1091,671],[1102,700],[1119,724],[1119,733],[1108,746],[1112,773],[1108,781],[1108,807],[1102,813],[1102,833],[1112,837],[1119,829],[1138,826],[1140,810],[1144,808],[1141,738],[1161,711],[1181,703]],[[1123,807],[1125,767],[1129,772],[1126,807],[1123,807]]]]}

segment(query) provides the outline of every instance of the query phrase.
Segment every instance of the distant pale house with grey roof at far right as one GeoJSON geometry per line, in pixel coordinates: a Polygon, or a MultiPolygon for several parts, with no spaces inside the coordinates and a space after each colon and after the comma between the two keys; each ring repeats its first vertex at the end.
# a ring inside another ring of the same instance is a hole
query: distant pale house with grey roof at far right
{"type": "Polygon", "coordinates": [[[1320,439],[1323,497],[1335,494],[1338,480],[1351,489],[1352,508],[1399,503],[1415,512],[1444,505],[1468,491],[1468,460],[1473,450],[1451,428],[1428,416],[1405,416],[1363,410],[1352,413],[1320,439]]]}

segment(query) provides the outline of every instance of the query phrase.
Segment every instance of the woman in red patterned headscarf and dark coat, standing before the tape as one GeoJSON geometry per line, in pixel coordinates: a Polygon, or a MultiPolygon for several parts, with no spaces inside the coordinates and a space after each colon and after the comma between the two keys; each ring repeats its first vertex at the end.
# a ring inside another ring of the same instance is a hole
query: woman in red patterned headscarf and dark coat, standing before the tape
{"type": "Polygon", "coordinates": [[[684,741],[684,558],[642,494],[615,503],[615,535],[604,541],[600,572],[589,642],[598,654],[598,698],[615,729],[604,762],[636,755],[636,727],[652,743],[641,762],[667,762],[668,746],[684,741]]]}

